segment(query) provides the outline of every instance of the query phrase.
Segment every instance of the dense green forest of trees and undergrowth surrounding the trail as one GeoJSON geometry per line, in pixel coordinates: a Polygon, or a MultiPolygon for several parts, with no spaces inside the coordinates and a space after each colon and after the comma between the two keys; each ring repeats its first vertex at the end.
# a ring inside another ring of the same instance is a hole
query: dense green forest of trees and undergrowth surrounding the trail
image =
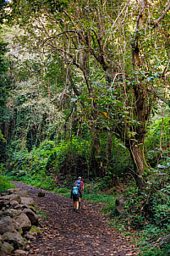
{"type": "Polygon", "coordinates": [[[170,255],[169,21],[168,0],[0,1],[0,192],[81,175],[140,255],[170,255]]]}

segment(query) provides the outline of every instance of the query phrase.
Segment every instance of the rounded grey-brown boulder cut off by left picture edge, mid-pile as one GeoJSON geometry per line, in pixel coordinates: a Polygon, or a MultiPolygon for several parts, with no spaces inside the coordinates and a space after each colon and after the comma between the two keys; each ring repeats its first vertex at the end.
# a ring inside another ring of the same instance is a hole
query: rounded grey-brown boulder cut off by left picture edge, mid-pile
{"type": "Polygon", "coordinates": [[[15,231],[15,221],[9,216],[3,217],[0,220],[0,234],[6,233],[8,231],[15,231]]]}

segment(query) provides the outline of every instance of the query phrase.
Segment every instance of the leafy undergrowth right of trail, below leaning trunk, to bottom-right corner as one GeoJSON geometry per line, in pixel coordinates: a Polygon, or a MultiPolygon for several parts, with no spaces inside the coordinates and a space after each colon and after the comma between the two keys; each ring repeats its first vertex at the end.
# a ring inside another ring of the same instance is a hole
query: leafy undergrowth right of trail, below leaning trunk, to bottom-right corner
{"type": "MultiPolygon", "coordinates": [[[[111,218],[110,225],[128,237],[138,237],[140,255],[169,255],[170,184],[168,173],[155,170],[147,177],[143,192],[134,182],[119,186],[125,207],[122,214],[115,209],[115,192],[112,203],[102,211],[111,218]]],[[[136,241],[135,241],[136,242],[136,241]]]]}

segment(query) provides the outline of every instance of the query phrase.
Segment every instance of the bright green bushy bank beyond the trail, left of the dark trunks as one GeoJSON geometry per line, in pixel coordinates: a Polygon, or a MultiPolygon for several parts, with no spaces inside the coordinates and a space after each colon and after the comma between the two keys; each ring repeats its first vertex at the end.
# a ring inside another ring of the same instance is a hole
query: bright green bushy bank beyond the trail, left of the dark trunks
{"type": "MultiPolygon", "coordinates": [[[[72,186],[82,170],[84,173],[85,168],[87,170],[88,159],[85,159],[89,150],[87,141],[73,137],[72,141],[62,142],[56,146],[55,142],[46,140],[41,142],[39,147],[33,148],[30,153],[25,146],[21,147],[21,144],[22,142],[18,140],[8,147],[7,172],[15,180],[52,190],[56,186],[52,180],[53,176],[63,185],[68,176],[69,184],[72,186]]],[[[66,186],[69,184],[66,182],[66,186]]]]}

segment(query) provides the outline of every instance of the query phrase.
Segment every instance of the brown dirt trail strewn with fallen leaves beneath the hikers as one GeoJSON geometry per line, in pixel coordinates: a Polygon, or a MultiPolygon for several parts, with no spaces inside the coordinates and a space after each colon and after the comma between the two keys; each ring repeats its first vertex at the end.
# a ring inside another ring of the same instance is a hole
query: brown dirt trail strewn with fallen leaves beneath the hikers
{"type": "Polygon", "coordinates": [[[43,232],[30,242],[28,255],[54,256],[134,256],[138,255],[133,245],[107,225],[107,219],[100,214],[102,203],[82,202],[79,213],[73,211],[73,201],[52,192],[45,192],[34,186],[12,182],[15,186],[27,190],[34,198],[36,207],[47,214],[41,220],[43,232]]]}

